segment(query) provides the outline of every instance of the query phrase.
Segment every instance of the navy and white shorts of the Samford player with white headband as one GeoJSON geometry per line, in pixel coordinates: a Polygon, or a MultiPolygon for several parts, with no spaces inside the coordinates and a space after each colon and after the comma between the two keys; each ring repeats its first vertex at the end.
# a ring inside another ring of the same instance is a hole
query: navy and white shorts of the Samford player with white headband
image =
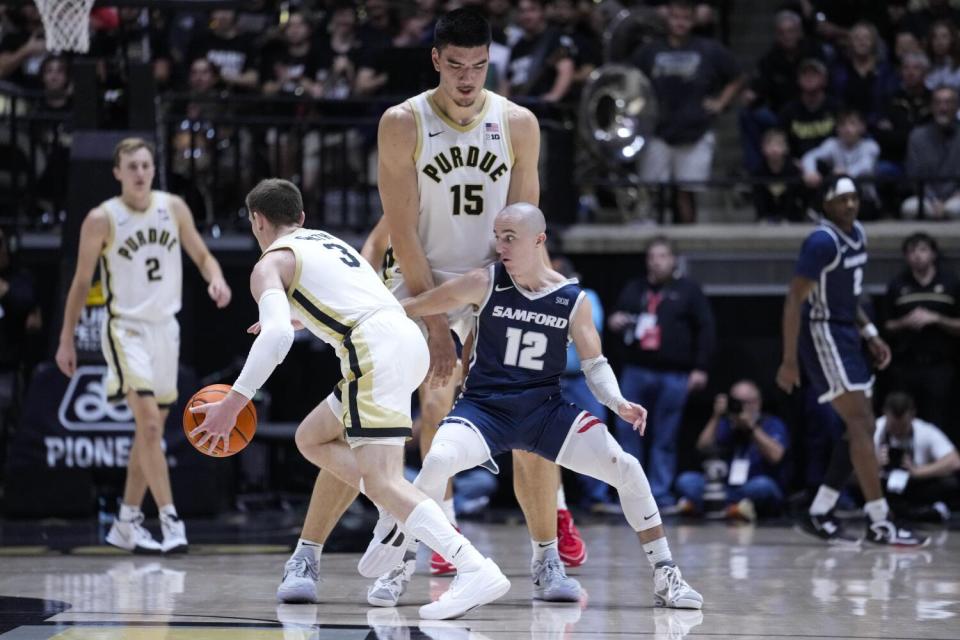
{"type": "Polygon", "coordinates": [[[856,325],[804,320],[799,355],[817,402],[824,404],[850,391],[871,394],[873,371],[856,325]]]}

